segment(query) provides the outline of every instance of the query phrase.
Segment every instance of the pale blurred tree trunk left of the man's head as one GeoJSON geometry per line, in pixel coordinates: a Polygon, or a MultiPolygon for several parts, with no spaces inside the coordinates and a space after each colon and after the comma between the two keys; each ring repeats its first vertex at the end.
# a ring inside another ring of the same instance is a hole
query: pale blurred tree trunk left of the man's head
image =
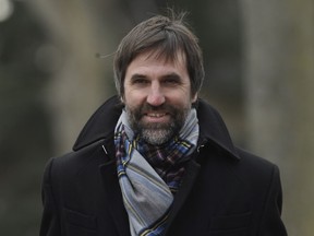
{"type": "MultiPolygon", "coordinates": [[[[104,80],[111,58],[99,60],[100,49],[112,52],[111,21],[105,15],[114,11],[111,1],[104,1],[108,10],[97,12],[97,2],[89,1],[31,1],[31,7],[45,23],[49,36],[61,55],[61,67],[51,80],[47,94],[55,152],[71,150],[88,116],[112,94],[112,76],[104,80]],[[102,28],[99,28],[101,22],[102,28]],[[101,34],[105,30],[107,34],[101,34]],[[101,31],[102,30],[102,31],[101,31]]],[[[112,25],[113,26],[113,25],[112,25]]]]}

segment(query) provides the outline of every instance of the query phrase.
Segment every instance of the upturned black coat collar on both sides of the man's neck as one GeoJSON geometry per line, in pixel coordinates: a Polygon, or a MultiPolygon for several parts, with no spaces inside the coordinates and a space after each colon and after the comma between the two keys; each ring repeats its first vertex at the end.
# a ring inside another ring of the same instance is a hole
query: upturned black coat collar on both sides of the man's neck
{"type": "MultiPolygon", "coordinates": [[[[77,151],[102,139],[111,139],[122,107],[123,104],[121,104],[118,96],[105,102],[81,131],[73,150],[77,151]]],[[[225,151],[228,156],[239,158],[227,127],[218,111],[203,99],[197,102],[196,110],[201,130],[200,135],[203,140],[200,144],[210,142],[225,151]]]]}

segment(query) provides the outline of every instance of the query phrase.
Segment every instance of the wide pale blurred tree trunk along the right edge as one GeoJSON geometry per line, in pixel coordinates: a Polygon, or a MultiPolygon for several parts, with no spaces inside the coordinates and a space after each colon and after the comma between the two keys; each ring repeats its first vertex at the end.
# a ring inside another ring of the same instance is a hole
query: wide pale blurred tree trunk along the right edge
{"type": "Polygon", "coordinates": [[[291,235],[314,232],[314,1],[242,0],[250,149],[280,164],[291,235]]]}

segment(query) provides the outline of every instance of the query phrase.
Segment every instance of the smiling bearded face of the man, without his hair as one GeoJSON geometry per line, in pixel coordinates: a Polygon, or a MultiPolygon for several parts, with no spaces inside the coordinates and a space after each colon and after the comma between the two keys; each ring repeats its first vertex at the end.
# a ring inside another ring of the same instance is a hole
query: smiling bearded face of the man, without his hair
{"type": "Polygon", "coordinates": [[[123,103],[129,122],[150,144],[160,145],[180,131],[196,97],[183,54],[167,61],[146,51],[126,69],[123,103]]]}

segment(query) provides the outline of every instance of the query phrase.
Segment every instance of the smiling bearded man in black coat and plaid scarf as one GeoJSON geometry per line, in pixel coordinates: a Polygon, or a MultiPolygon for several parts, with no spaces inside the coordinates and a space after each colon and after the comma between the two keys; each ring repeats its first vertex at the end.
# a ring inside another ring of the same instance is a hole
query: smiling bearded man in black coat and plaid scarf
{"type": "Polygon", "coordinates": [[[118,96],[48,163],[40,236],[285,236],[274,164],[235,148],[198,98],[183,14],[135,26],[114,58],[118,96]]]}

